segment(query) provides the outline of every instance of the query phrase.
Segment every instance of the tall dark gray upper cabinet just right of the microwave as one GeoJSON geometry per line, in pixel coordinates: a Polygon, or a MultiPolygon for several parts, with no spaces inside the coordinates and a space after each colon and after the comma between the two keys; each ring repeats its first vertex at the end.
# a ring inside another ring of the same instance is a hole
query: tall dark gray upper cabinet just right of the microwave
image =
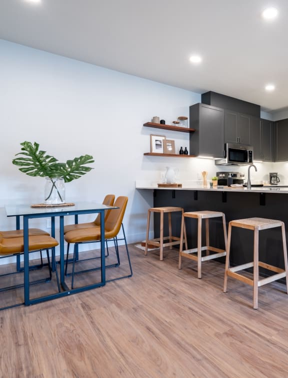
{"type": "Polygon", "coordinates": [[[272,161],[273,122],[251,117],[251,145],[254,160],[272,161]]]}

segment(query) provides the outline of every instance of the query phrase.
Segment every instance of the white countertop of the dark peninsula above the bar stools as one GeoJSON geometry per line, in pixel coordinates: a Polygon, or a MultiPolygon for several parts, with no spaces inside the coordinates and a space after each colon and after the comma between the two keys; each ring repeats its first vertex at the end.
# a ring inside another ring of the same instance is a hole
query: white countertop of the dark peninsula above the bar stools
{"type": "Polygon", "coordinates": [[[254,186],[251,189],[247,189],[244,187],[224,187],[224,186],[217,186],[210,188],[209,186],[197,185],[191,182],[182,182],[181,188],[158,188],[156,182],[152,181],[135,181],[135,188],[136,189],[161,189],[161,190],[208,190],[208,191],[218,191],[218,192],[252,192],[252,193],[287,193],[288,194],[288,187],[281,188],[277,186],[273,187],[266,187],[261,186],[257,187],[254,186]]]}

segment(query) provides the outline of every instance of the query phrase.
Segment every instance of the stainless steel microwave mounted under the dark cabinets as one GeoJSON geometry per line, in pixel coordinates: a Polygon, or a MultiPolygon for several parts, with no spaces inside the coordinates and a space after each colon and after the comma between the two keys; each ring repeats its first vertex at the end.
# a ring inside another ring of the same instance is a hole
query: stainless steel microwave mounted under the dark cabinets
{"type": "Polygon", "coordinates": [[[225,143],[225,159],[215,160],[216,165],[252,165],[253,147],[237,143],[225,143]]]}

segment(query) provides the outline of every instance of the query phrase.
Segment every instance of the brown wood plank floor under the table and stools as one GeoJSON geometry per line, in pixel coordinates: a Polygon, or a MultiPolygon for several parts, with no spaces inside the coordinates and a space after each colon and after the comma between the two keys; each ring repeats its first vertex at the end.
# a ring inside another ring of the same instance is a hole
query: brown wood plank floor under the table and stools
{"type": "Polygon", "coordinates": [[[129,245],[129,251],[132,278],[0,311],[0,376],[288,376],[283,284],[259,288],[259,309],[253,310],[250,286],[228,278],[222,292],[221,263],[204,263],[197,279],[193,261],[183,259],[178,270],[176,250],[164,250],[163,261],[157,250],[144,256],[129,245]]]}

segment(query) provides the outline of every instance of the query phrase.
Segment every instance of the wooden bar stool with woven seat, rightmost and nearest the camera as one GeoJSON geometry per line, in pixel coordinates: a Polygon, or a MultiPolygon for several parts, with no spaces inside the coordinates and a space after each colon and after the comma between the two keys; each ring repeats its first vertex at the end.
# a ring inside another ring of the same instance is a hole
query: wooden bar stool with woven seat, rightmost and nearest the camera
{"type": "Polygon", "coordinates": [[[288,267],[287,267],[287,249],[286,249],[286,237],[285,237],[285,226],[284,223],[279,220],[265,219],[265,218],[246,218],[238,219],[229,222],[228,226],[228,245],[227,245],[227,255],[225,263],[225,274],[224,274],[224,293],[227,291],[227,276],[233,277],[253,286],[253,308],[258,308],[258,287],[265,285],[266,283],[275,281],[277,279],[286,277],[286,290],[288,293],[288,267]],[[253,251],[253,261],[246,264],[229,267],[229,254],[230,254],[230,243],[231,243],[231,229],[232,227],[241,227],[254,232],[254,251],[253,251]],[[268,228],[281,227],[282,232],[282,244],[283,244],[283,254],[284,254],[284,266],[285,269],[278,268],[273,265],[266,264],[265,262],[259,261],[258,256],[258,241],[259,241],[259,231],[266,230],[268,228]],[[259,266],[268,270],[275,272],[275,274],[259,279],[259,266]],[[239,270],[253,267],[253,278],[250,279],[242,274],[236,273],[239,270]]]}

